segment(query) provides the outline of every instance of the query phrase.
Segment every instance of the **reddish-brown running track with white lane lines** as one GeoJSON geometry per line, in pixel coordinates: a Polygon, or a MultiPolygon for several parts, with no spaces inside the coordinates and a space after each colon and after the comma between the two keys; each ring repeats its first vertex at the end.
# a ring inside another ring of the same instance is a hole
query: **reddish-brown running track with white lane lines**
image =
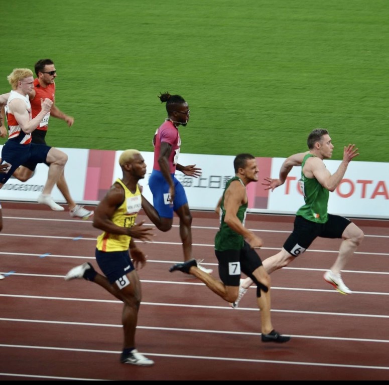
{"type": "MultiPolygon", "coordinates": [[[[194,257],[214,269],[213,213],[194,212],[194,257]]],[[[73,266],[94,261],[99,231],[35,204],[3,204],[0,233],[0,379],[2,380],[388,380],[389,221],[354,220],[365,233],[343,279],[342,295],[322,276],[340,240],[318,239],[272,274],[272,318],[292,339],[261,342],[255,289],[238,309],[199,280],[169,267],[181,262],[177,222],[141,244],[143,301],[137,347],[152,367],[119,363],[122,305],[85,280],[66,282],[73,266]]],[[[144,218],[144,216],[140,216],[144,218]]],[[[147,218],[146,218],[147,220],[147,218]]],[[[150,221],[147,220],[147,223],[150,221]]],[[[248,215],[246,225],[275,254],[293,217],[248,215]]]]}

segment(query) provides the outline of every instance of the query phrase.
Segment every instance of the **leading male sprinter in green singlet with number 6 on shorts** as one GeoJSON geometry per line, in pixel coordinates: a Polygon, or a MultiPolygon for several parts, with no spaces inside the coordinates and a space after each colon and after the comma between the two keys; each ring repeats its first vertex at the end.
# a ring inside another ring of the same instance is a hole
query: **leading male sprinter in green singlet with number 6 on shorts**
{"type": "MultiPolygon", "coordinates": [[[[358,148],[354,144],[344,146],[343,160],[331,175],[323,162],[323,159],[332,157],[334,149],[328,131],[322,128],[313,130],[308,136],[307,144],[309,151],[291,155],[284,161],[279,178],[265,178],[266,182],[263,183],[267,186],[266,189],[273,191],[284,184],[293,166],[301,165],[299,183],[305,205],[297,211],[293,232],[284,243],[282,250],[265,259],[264,267],[270,274],[289,265],[304,253],[317,237],[341,238],[343,241],[338,256],[330,270],[324,273],[324,280],[340,293],[351,294],[352,291],[342,280],[341,270],[362,242],[364,234],[348,219],[328,214],[327,206],[330,191],[334,191],[341,182],[349,162],[359,155],[358,148]]],[[[241,282],[238,300],[231,304],[233,308],[238,306],[239,300],[251,284],[249,277],[241,282]]]]}

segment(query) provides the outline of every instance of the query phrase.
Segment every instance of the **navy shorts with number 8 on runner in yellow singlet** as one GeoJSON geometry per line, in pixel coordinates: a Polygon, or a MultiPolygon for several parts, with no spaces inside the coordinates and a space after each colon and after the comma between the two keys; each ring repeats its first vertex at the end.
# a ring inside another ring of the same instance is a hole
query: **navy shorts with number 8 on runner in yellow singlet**
{"type": "Polygon", "coordinates": [[[127,286],[130,282],[126,276],[135,270],[133,262],[126,251],[95,251],[96,262],[108,278],[109,283],[116,283],[119,289],[127,286]]]}

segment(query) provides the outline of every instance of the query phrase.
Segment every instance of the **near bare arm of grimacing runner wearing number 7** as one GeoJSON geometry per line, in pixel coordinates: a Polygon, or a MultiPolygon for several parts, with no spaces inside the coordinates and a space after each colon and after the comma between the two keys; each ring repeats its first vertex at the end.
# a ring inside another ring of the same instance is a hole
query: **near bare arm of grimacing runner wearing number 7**
{"type": "Polygon", "coordinates": [[[239,206],[244,204],[246,199],[245,187],[238,180],[232,181],[224,193],[224,222],[231,230],[242,235],[252,248],[261,247],[263,245],[262,239],[246,229],[236,216],[239,206]]]}

